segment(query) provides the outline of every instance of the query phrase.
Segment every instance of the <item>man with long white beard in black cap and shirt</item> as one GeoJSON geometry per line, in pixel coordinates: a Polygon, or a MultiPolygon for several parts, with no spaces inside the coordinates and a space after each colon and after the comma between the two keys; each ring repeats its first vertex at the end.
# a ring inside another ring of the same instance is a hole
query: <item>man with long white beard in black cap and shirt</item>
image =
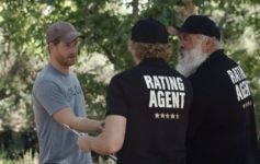
{"type": "Polygon", "coordinates": [[[177,70],[193,86],[186,149],[188,164],[259,164],[249,81],[221,48],[216,24],[191,15],[181,27],[177,70]]]}

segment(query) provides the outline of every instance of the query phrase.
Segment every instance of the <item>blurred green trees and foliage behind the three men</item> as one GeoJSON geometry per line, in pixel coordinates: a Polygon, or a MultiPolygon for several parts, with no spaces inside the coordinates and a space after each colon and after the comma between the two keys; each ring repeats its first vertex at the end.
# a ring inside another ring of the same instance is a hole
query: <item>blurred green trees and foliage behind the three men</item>
{"type": "MultiPolygon", "coordinates": [[[[102,119],[111,77],[134,66],[126,47],[132,25],[146,16],[180,25],[191,14],[218,24],[224,48],[248,74],[260,132],[259,0],[0,0],[0,156],[37,151],[31,90],[48,60],[45,33],[53,22],[68,21],[86,36],[74,69],[89,117],[102,119]]],[[[170,40],[176,55],[177,38],[170,40]]]]}

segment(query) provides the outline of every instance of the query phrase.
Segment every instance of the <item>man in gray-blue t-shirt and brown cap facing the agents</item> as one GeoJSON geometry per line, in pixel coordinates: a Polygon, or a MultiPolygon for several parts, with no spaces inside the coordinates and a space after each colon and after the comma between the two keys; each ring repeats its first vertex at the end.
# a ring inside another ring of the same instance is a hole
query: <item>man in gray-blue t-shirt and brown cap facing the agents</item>
{"type": "Polygon", "coordinates": [[[47,31],[49,63],[33,86],[33,105],[39,143],[39,164],[90,164],[89,153],[77,148],[81,131],[100,131],[100,121],[86,118],[84,97],[75,65],[81,34],[68,22],[56,22],[47,31]],[[67,127],[67,128],[66,128],[67,127]]]}

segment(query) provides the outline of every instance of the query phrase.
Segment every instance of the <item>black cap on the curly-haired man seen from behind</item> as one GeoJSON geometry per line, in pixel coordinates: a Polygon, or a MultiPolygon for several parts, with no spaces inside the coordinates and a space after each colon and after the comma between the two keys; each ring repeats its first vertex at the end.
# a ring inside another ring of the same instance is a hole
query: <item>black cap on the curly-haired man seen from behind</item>
{"type": "Polygon", "coordinates": [[[147,44],[167,44],[168,32],[159,21],[148,17],[139,20],[132,28],[132,40],[147,44]]]}

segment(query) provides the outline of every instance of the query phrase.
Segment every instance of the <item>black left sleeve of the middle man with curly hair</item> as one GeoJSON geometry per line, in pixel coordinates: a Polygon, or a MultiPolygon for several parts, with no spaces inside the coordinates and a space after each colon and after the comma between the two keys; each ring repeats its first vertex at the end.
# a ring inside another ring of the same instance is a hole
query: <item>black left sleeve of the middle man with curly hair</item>
{"type": "Polygon", "coordinates": [[[127,105],[124,90],[117,77],[114,77],[109,85],[106,95],[106,116],[108,115],[120,115],[127,117],[127,105]]]}

